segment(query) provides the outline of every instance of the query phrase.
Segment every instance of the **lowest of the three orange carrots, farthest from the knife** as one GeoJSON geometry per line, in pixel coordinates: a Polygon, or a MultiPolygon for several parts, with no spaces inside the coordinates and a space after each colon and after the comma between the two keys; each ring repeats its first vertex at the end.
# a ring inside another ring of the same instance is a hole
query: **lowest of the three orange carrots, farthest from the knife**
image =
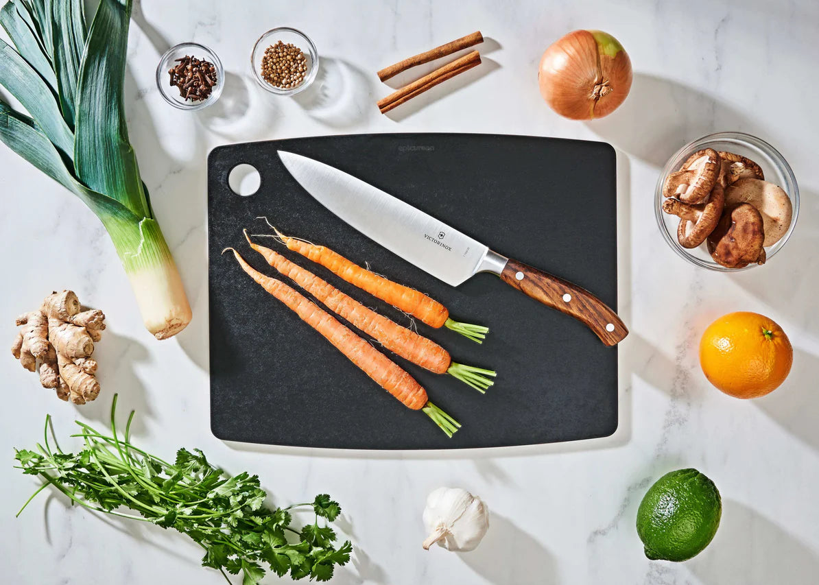
{"type": "Polygon", "coordinates": [[[379,386],[400,400],[404,406],[412,410],[423,410],[450,437],[459,429],[460,424],[455,419],[428,400],[427,391],[423,386],[387,356],[339,323],[333,315],[322,311],[309,299],[296,293],[287,284],[254,270],[233,248],[225,248],[222,253],[228,250],[233,252],[242,270],[256,283],[299,315],[301,320],[310,324],[310,327],[318,331],[333,344],[333,347],[341,351],[379,386]]]}

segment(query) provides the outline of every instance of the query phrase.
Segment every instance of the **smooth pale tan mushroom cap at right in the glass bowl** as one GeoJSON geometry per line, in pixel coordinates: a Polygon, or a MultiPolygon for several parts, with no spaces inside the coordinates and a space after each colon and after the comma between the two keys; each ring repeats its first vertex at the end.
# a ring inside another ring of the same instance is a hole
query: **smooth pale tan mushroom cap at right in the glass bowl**
{"type": "Polygon", "coordinates": [[[790,228],[794,207],[788,193],[778,185],[760,179],[739,179],[725,192],[726,205],[750,203],[762,215],[765,247],[773,246],[790,228]]]}

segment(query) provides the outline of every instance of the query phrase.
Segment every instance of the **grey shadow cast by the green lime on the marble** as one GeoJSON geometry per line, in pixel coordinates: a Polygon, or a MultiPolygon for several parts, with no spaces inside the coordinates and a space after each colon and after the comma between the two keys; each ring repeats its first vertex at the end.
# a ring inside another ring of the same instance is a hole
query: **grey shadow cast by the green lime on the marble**
{"type": "Polygon", "coordinates": [[[717,536],[686,568],[713,585],[808,585],[817,582],[819,556],[757,511],[723,500],[717,536]]]}

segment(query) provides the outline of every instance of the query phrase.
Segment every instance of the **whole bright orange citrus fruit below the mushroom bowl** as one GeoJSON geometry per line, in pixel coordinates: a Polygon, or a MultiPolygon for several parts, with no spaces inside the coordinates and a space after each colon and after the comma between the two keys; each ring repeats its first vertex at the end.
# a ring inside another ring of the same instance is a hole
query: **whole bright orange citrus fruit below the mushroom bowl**
{"type": "Polygon", "coordinates": [[[794,348],[782,328],[758,313],[723,315],[699,341],[699,365],[708,382],[737,398],[756,398],[785,382],[794,348]]]}

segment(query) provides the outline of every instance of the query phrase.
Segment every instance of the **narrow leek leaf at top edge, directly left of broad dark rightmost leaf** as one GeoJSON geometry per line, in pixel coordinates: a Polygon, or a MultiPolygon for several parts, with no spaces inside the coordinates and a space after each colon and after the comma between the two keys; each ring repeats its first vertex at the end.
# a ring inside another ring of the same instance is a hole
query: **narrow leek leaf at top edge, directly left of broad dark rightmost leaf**
{"type": "Polygon", "coordinates": [[[85,44],[85,26],[79,7],[81,2],[82,0],[61,0],[52,4],[54,70],[60,87],[62,115],[72,128],[75,123],[79,64],[85,44]]]}

